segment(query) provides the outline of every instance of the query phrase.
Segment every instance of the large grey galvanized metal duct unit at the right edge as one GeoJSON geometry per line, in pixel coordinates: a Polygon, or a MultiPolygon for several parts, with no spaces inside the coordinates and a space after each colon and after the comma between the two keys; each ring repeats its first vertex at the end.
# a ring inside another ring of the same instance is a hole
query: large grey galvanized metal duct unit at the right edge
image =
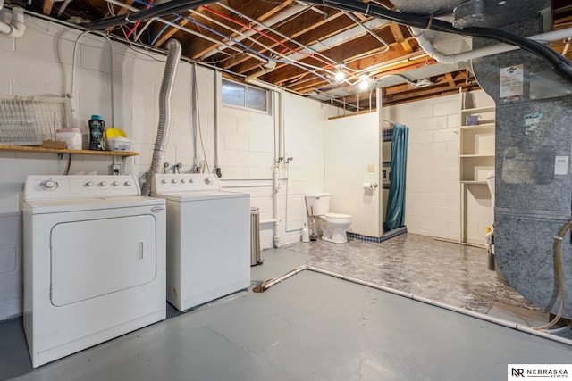
{"type": "MultiPolygon", "coordinates": [[[[550,2],[534,4],[537,12],[533,17],[497,27],[520,36],[543,32],[541,13],[550,2]]],[[[476,48],[488,45],[489,41],[474,39],[476,48]]],[[[572,86],[523,50],[475,59],[473,71],[496,102],[498,266],[527,300],[557,317],[571,318],[572,242],[569,232],[558,235],[572,215],[572,86]],[[559,277],[560,269],[563,277],[559,277]]]]}

